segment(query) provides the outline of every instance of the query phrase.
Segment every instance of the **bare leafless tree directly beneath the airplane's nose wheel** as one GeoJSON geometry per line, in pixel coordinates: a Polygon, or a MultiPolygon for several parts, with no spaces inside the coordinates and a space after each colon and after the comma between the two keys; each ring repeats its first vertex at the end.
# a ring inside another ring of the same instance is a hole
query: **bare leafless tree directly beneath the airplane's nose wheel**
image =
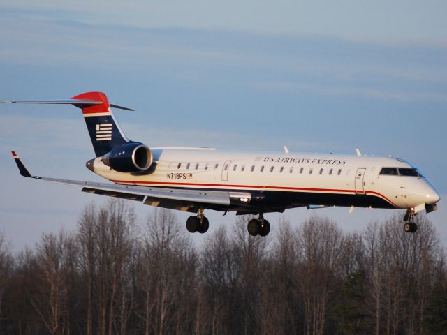
{"type": "Polygon", "coordinates": [[[418,232],[406,234],[394,216],[365,232],[376,334],[425,334],[427,299],[442,251],[427,218],[418,216],[417,223],[418,232]]]}

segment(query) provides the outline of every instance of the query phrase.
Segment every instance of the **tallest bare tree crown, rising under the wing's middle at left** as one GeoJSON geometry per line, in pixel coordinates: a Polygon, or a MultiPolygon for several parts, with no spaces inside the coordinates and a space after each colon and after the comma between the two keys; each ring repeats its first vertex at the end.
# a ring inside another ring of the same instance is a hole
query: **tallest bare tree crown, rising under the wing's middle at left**
{"type": "Polygon", "coordinates": [[[125,284],[133,253],[135,214],[122,200],[89,207],[79,223],[80,268],[87,281],[87,334],[93,329],[94,301],[99,334],[125,332],[133,292],[125,284]]]}

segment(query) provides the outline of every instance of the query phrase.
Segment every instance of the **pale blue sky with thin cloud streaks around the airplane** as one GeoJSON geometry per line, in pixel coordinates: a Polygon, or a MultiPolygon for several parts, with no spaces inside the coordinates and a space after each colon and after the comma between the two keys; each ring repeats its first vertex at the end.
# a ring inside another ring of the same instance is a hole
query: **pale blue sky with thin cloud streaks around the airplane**
{"type": "MultiPolygon", "coordinates": [[[[104,91],[135,108],[117,118],[149,147],[393,154],[446,199],[446,1],[324,2],[2,1],[0,100],[104,91]]],[[[84,167],[93,151],[79,110],[1,105],[0,132],[0,229],[14,248],[104,201],[20,178],[10,158],[15,149],[36,174],[100,180],[84,167]]],[[[447,245],[444,199],[430,218],[447,245]]],[[[314,213],[352,231],[395,212],[314,213]]]]}

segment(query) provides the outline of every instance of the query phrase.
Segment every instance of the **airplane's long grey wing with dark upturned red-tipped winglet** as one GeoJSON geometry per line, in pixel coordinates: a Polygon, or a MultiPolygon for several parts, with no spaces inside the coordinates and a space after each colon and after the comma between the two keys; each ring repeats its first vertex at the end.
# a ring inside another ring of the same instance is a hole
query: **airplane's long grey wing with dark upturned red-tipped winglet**
{"type": "Polygon", "coordinates": [[[91,181],[76,181],[69,179],[56,179],[49,177],[34,176],[20,160],[19,156],[12,151],[14,161],[19,168],[20,174],[43,181],[50,181],[57,184],[82,187],[82,191],[101,195],[108,195],[116,198],[137,200],[172,209],[188,211],[197,207],[230,207],[230,205],[244,206],[250,201],[251,194],[247,192],[226,192],[226,191],[203,191],[203,190],[181,190],[175,188],[130,186],[122,184],[95,183],[91,181]]]}

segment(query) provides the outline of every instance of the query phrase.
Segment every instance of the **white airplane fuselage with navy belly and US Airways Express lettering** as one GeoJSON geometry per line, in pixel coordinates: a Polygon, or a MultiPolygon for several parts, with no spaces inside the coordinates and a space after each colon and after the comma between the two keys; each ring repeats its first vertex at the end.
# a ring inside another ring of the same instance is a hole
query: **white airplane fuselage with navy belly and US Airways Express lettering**
{"type": "Polygon", "coordinates": [[[380,174],[382,168],[414,169],[394,157],[175,148],[152,152],[154,165],[148,172],[117,172],[101,158],[94,161],[94,172],[116,184],[246,191],[251,205],[265,211],[309,204],[410,209],[439,200],[425,177],[380,174]]]}

